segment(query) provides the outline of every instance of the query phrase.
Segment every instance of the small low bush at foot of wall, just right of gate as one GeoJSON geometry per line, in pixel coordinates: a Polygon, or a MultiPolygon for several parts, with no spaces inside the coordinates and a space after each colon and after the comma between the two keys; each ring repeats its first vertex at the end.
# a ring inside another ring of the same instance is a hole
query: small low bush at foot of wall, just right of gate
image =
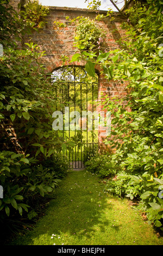
{"type": "Polygon", "coordinates": [[[88,172],[95,173],[101,178],[111,177],[116,174],[116,169],[109,154],[96,154],[85,162],[88,172]]]}

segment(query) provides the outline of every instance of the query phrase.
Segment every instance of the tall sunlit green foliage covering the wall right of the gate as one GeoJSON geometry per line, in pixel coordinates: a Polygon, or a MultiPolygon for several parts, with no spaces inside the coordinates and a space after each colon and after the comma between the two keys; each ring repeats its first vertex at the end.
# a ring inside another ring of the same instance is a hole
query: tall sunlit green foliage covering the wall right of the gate
{"type": "Polygon", "coordinates": [[[103,102],[112,117],[105,143],[116,148],[112,162],[121,170],[112,185],[109,181],[109,190],[140,198],[140,209],[156,227],[161,227],[162,218],[162,199],[157,197],[163,163],[162,11],[162,1],[136,2],[126,11],[129,18],[123,24],[126,36],[119,41],[121,48],[99,52],[97,59],[84,58],[90,75],[98,64],[108,81],[126,84],[126,97],[108,95],[103,102]],[[143,182],[137,181],[139,175],[143,182]]]}

